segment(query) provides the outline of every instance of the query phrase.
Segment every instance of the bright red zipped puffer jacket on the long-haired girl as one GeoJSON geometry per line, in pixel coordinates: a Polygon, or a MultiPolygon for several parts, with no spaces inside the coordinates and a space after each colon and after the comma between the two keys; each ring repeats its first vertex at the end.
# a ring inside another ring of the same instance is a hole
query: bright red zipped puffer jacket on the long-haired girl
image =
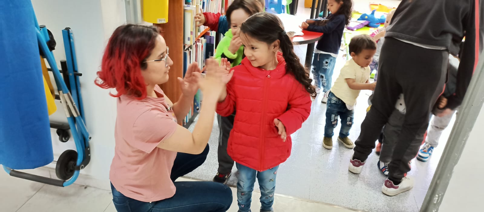
{"type": "Polygon", "coordinates": [[[255,68],[246,58],[232,68],[227,98],[218,103],[217,113],[229,116],[236,110],[227,152],[237,163],[254,170],[273,168],[291,154],[290,134],[301,128],[311,112],[309,93],[294,75],[286,73],[281,54],[275,70],[255,68]],[[286,127],[287,140],[277,134],[274,119],[286,127]]]}

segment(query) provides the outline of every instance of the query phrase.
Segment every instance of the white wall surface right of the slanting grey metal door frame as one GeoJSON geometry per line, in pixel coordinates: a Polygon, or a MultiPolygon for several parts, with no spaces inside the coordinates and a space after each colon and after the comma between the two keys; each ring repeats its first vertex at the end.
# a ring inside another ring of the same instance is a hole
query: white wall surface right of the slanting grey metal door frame
{"type": "Polygon", "coordinates": [[[454,173],[442,199],[439,212],[456,212],[462,210],[466,212],[483,211],[483,127],[484,107],[477,116],[476,123],[472,128],[464,151],[454,168],[454,173]]]}

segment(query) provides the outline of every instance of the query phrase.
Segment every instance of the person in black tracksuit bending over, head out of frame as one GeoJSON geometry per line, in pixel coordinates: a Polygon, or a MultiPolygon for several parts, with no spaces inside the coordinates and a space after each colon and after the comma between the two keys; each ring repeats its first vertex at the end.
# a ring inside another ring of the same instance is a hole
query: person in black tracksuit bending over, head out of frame
{"type": "Polygon", "coordinates": [[[381,49],[372,106],[363,120],[348,167],[353,173],[362,171],[398,96],[403,93],[407,113],[395,144],[400,151],[393,152],[389,176],[382,186],[384,194],[394,196],[413,187],[413,180],[404,177],[410,170],[408,162],[419,150],[419,145],[411,142],[427,129],[430,112],[446,80],[449,53],[458,53],[465,36],[456,91],[449,97],[446,111],[462,103],[477,64],[476,41],[480,36],[476,36],[479,30],[476,11],[482,7],[479,3],[479,0],[402,0],[393,15],[381,49]]]}

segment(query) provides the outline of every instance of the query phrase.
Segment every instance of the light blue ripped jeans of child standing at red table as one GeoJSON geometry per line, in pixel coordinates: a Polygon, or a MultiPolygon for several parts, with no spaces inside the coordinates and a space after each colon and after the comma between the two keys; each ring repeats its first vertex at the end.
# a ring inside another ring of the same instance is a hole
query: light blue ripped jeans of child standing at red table
{"type": "Polygon", "coordinates": [[[331,77],[333,76],[335,64],[336,57],[328,54],[314,53],[312,64],[314,82],[316,83],[316,87],[323,88],[323,92],[331,89],[331,77]]]}

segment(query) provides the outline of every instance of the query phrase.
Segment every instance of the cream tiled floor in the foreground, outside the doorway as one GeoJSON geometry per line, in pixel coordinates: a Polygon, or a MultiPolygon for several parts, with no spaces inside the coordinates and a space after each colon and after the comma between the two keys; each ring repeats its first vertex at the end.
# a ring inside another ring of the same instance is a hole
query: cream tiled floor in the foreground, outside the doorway
{"type": "MultiPolygon", "coordinates": [[[[25,170],[24,170],[25,171],[25,170]]],[[[26,170],[25,172],[49,177],[47,168],[26,170]]],[[[181,178],[180,181],[193,181],[181,178]]],[[[11,177],[0,172],[0,205],[1,212],[116,212],[110,191],[92,188],[79,184],[57,187],[11,177]]],[[[236,189],[232,187],[232,195],[236,189]]],[[[254,192],[253,199],[260,198],[254,192]]],[[[353,212],[341,207],[321,204],[307,200],[276,195],[274,210],[277,212],[353,212]]],[[[254,201],[252,210],[258,211],[260,203],[254,201]]],[[[237,199],[234,198],[228,212],[237,212],[237,199]]]]}

